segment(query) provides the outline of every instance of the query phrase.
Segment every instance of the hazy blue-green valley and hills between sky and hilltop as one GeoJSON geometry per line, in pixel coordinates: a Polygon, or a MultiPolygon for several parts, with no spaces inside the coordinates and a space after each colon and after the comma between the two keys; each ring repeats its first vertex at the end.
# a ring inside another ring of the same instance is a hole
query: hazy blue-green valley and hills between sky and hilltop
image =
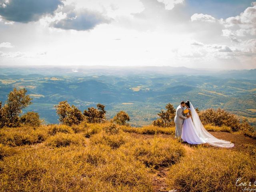
{"type": "Polygon", "coordinates": [[[256,125],[256,70],[198,70],[185,67],[36,66],[0,67],[0,101],[26,88],[34,110],[58,123],[54,105],[67,100],[80,110],[102,103],[107,117],[125,110],[131,124],[150,124],[168,102],[190,100],[200,110],[225,108],[256,125]]]}

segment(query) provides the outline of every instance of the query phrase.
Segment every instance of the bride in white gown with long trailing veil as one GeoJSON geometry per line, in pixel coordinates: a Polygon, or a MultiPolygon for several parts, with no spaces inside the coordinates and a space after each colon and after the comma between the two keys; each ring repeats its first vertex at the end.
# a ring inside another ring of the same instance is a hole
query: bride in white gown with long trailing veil
{"type": "Polygon", "coordinates": [[[208,131],[206,131],[193,105],[189,101],[187,101],[185,105],[188,108],[189,114],[190,116],[192,116],[192,119],[191,118],[184,119],[182,134],[181,134],[182,140],[190,144],[208,143],[216,147],[225,147],[225,148],[234,147],[233,143],[229,141],[217,139],[216,137],[211,135],[208,131]]]}

